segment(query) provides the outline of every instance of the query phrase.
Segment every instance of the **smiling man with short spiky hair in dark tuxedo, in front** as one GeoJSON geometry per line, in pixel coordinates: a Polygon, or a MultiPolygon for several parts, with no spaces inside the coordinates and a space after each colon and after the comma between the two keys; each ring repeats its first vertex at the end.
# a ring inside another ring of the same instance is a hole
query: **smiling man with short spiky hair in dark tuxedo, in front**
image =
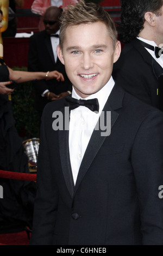
{"type": "Polygon", "coordinates": [[[73,89],[43,111],[30,245],[163,245],[163,114],[112,79],[121,44],[102,7],[80,0],[61,24],[73,89]]]}

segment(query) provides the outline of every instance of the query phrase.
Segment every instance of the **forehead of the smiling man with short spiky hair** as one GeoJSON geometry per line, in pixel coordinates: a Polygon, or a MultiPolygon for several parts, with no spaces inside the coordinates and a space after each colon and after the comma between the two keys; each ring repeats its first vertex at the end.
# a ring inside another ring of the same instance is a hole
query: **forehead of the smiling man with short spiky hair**
{"type": "Polygon", "coordinates": [[[86,23],[68,26],[65,33],[64,44],[67,45],[94,45],[112,44],[108,28],[103,22],[86,23]]]}

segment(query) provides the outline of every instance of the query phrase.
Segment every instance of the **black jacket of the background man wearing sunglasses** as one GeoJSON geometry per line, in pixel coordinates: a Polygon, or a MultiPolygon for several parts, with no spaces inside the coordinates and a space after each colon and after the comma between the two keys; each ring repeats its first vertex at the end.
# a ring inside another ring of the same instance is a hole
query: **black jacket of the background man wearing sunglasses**
{"type": "Polygon", "coordinates": [[[30,37],[29,53],[28,53],[28,71],[53,71],[57,70],[64,75],[65,82],[58,82],[54,80],[41,80],[34,83],[36,90],[36,109],[42,111],[48,100],[42,97],[41,94],[48,89],[50,92],[60,94],[72,90],[71,82],[65,72],[65,66],[57,59],[54,60],[54,54],[51,44],[51,38],[46,31],[41,31],[30,37]]]}

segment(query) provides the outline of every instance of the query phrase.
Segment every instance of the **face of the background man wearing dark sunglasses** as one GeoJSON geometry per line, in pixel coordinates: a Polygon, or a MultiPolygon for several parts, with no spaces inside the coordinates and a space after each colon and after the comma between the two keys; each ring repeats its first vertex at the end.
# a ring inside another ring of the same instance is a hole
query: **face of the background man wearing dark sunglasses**
{"type": "Polygon", "coordinates": [[[44,16],[43,22],[47,34],[55,34],[59,30],[59,15],[53,11],[44,16]]]}

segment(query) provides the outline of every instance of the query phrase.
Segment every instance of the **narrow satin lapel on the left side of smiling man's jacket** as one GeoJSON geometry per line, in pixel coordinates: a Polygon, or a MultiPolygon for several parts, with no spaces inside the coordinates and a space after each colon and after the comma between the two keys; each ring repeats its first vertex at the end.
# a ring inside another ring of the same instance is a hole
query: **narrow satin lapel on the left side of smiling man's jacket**
{"type": "Polygon", "coordinates": [[[74,181],[72,176],[69,145],[68,145],[69,115],[67,112],[68,117],[66,115],[66,118],[65,118],[65,108],[61,109],[61,113],[63,114],[63,118],[64,118],[64,123],[63,123],[64,129],[59,130],[59,152],[60,152],[62,172],[64,174],[66,186],[72,197],[73,191],[74,191],[74,181]]]}

